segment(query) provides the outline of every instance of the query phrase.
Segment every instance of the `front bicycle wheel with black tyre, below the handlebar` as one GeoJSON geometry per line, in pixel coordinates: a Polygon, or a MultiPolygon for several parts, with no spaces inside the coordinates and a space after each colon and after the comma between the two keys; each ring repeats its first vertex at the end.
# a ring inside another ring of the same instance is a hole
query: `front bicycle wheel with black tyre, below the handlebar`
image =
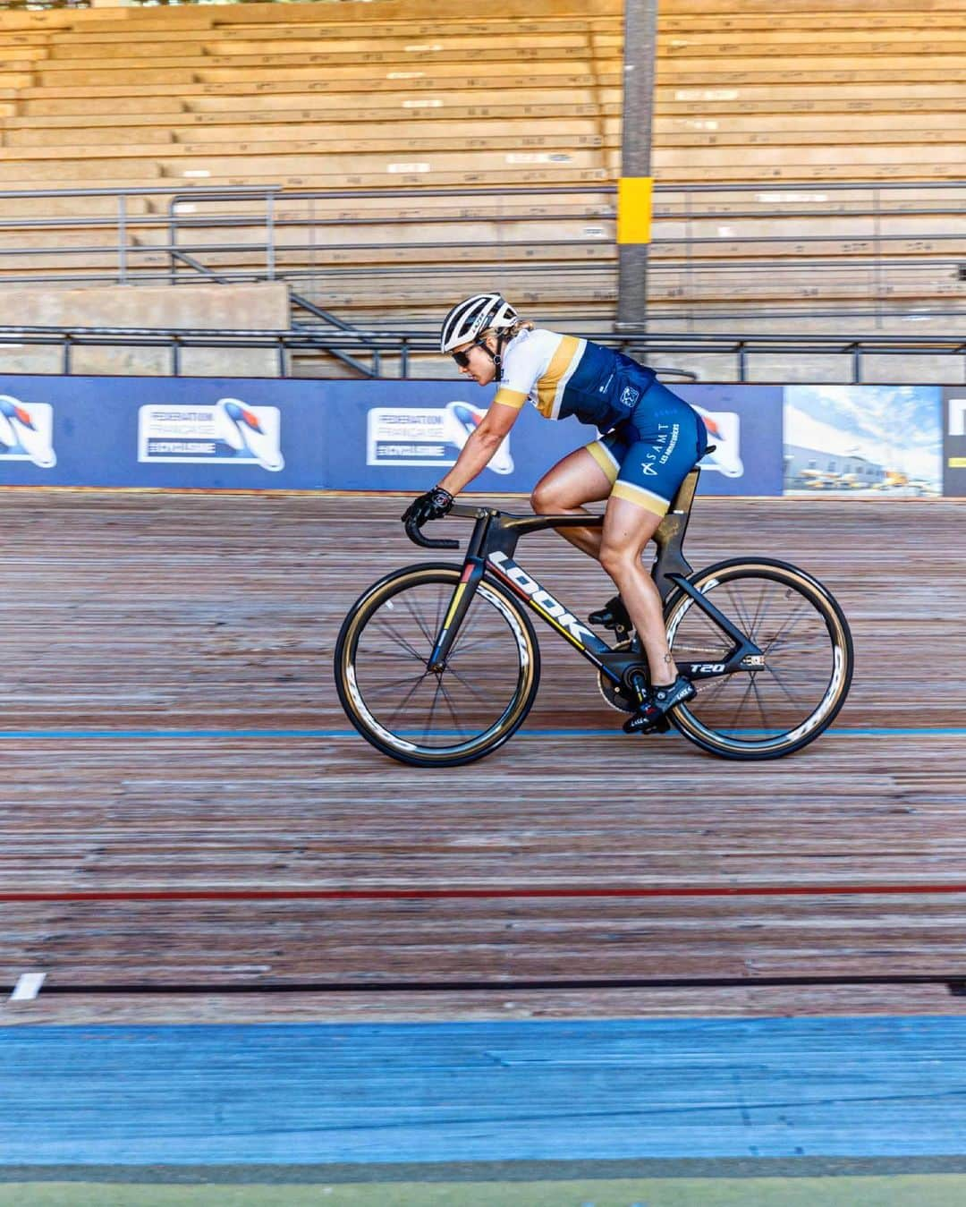
{"type": "Polygon", "coordinates": [[[476,588],[446,670],[435,675],[425,669],[462,573],[462,565],[425,562],[387,575],[352,605],[335,642],[335,687],[346,716],[377,751],[411,766],[458,766],[491,754],[523,723],[539,687],[540,652],[529,617],[488,577],[476,588]],[[380,654],[380,640],[396,642],[396,648],[380,654]],[[387,669],[393,661],[402,664],[398,670],[405,667],[399,692],[409,687],[394,707],[394,681],[380,683],[381,676],[394,674],[387,669]],[[496,696],[492,716],[473,722],[474,709],[481,718],[487,711],[480,702],[487,683],[496,696]],[[467,725],[451,693],[469,700],[467,725]],[[427,696],[428,718],[418,731],[427,696]],[[446,725],[437,722],[437,710],[440,718],[446,715],[446,725]]]}

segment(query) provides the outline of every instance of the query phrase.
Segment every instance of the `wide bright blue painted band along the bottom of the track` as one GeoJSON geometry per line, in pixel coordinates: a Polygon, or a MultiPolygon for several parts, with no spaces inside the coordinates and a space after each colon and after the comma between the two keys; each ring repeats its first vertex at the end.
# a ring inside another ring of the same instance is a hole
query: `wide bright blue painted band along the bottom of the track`
{"type": "Polygon", "coordinates": [[[0,1028],[0,1166],[966,1154],[966,1018],[0,1028]]]}

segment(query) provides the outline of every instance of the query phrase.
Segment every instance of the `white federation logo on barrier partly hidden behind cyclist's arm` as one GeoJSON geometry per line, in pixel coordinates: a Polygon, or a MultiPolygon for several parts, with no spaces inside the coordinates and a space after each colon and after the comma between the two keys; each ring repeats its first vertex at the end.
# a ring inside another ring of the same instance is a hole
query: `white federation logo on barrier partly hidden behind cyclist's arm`
{"type": "MultiPolygon", "coordinates": [[[[373,407],[365,424],[365,463],[451,466],[485,415],[485,408],[462,401],[445,407],[373,407]]],[[[514,472],[509,436],[487,468],[514,472]]]]}

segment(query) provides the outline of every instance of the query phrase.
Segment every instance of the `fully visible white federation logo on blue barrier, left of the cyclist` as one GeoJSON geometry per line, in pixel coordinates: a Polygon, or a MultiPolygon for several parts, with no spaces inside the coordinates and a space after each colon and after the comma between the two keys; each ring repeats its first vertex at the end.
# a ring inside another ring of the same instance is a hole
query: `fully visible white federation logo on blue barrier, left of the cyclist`
{"type": "Polygon", "coordinates": [[[148,403],[137,412],[137,460],[277,472],[285,467],[280,432],[277,407],[251,407],[240,398],[219,398],[213,407],[148,403]]]}

